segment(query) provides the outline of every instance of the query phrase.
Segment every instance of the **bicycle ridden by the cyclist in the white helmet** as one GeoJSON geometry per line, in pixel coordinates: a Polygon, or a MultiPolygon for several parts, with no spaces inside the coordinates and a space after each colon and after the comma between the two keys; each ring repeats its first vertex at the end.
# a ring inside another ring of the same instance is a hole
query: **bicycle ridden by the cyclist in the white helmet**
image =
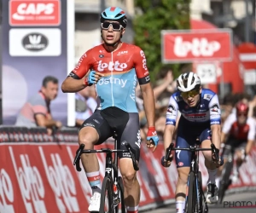
{"type": "Polygon", "coordinates": [[[195,142],[195,146],[189,148],[177,148],[171,143],[166,149],[166,161],[170,160],[170,154],[173,150],[184,150],[191,152],[191,164],[187,182],[187,194],[185,199],[185,213],[207,213],[208,205],[205,194],[202,189],[201,171],[199,170],[199,151],[212,151],[214,157],[218,160],[218,154],[216,147],[211,144],[211,148],[200,148],[198,145],[198,139],[195,142]],[[204,201],[204,206],[202,202],[204,201]]]}

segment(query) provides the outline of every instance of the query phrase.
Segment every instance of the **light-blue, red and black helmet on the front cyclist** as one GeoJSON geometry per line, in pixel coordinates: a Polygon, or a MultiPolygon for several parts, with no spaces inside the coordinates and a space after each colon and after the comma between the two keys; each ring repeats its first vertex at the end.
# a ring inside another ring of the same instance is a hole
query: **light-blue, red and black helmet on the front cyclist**
{"type": "Polygon", "coordinates": [[[101,23],[105,20],[116,20],[124,28],[127,25],[127,17],[123,9],[117,7],[109,7],[105,9],[101,14],[101,23]]]}

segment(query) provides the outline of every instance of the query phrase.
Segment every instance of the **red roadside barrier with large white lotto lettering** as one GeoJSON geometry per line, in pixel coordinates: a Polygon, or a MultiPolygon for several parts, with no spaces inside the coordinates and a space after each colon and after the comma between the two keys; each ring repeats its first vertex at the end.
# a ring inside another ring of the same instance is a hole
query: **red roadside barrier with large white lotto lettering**
{"type": "MultiPolygon", "coordinates": [[[[113,148],[113,143],[104,147],[113,148]]],[[[98,146],[96,148],[101,148],[98,146]]],[[[7,142],[0,143],[0,212],[88,212],[90,185],[84,171],[77,172],[73,158],[77,143],[7,142]]],[[[160,143],[152,153],[142,145],[138,180],[141,185],[140,206],[174,198],[176,165],[160,165],[164,154],[160,143]]],[[[105,154],[98,154],[103,178],[105,154]]],[[[200,158],[204,186],[207,170],[200,158]]],[[[256,186],[256,148],[241,167],[241,180],[233,187],[256,186]]]]}

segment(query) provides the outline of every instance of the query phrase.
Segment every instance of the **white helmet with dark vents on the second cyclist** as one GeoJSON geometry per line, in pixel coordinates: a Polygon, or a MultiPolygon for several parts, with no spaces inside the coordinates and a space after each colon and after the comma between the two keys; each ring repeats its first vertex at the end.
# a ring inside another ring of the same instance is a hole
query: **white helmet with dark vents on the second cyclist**
{"type": "Polygon", "coordinates": [[[194,72],[183,73],[177,78],[177,89],[181,92],[200,89],[200,86],[200,78],[194,72]]]}

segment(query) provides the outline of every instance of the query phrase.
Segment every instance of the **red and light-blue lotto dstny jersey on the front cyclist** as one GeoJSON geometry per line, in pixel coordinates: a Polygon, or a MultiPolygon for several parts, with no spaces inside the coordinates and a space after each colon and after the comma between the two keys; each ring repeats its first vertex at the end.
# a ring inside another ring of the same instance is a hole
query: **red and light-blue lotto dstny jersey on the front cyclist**
{"type": "Polygon", "coordinates": [[[102,44],[98,45],[80,58],[69,76],[84,78],[90,70],[104,74],[96,83],[97,109],[119,107],[125,112],[137,112],[137,80],[140,84],[150,81],[146,56],[142,49],[122,43],[119,49],[108,52],[102,44]]]}

